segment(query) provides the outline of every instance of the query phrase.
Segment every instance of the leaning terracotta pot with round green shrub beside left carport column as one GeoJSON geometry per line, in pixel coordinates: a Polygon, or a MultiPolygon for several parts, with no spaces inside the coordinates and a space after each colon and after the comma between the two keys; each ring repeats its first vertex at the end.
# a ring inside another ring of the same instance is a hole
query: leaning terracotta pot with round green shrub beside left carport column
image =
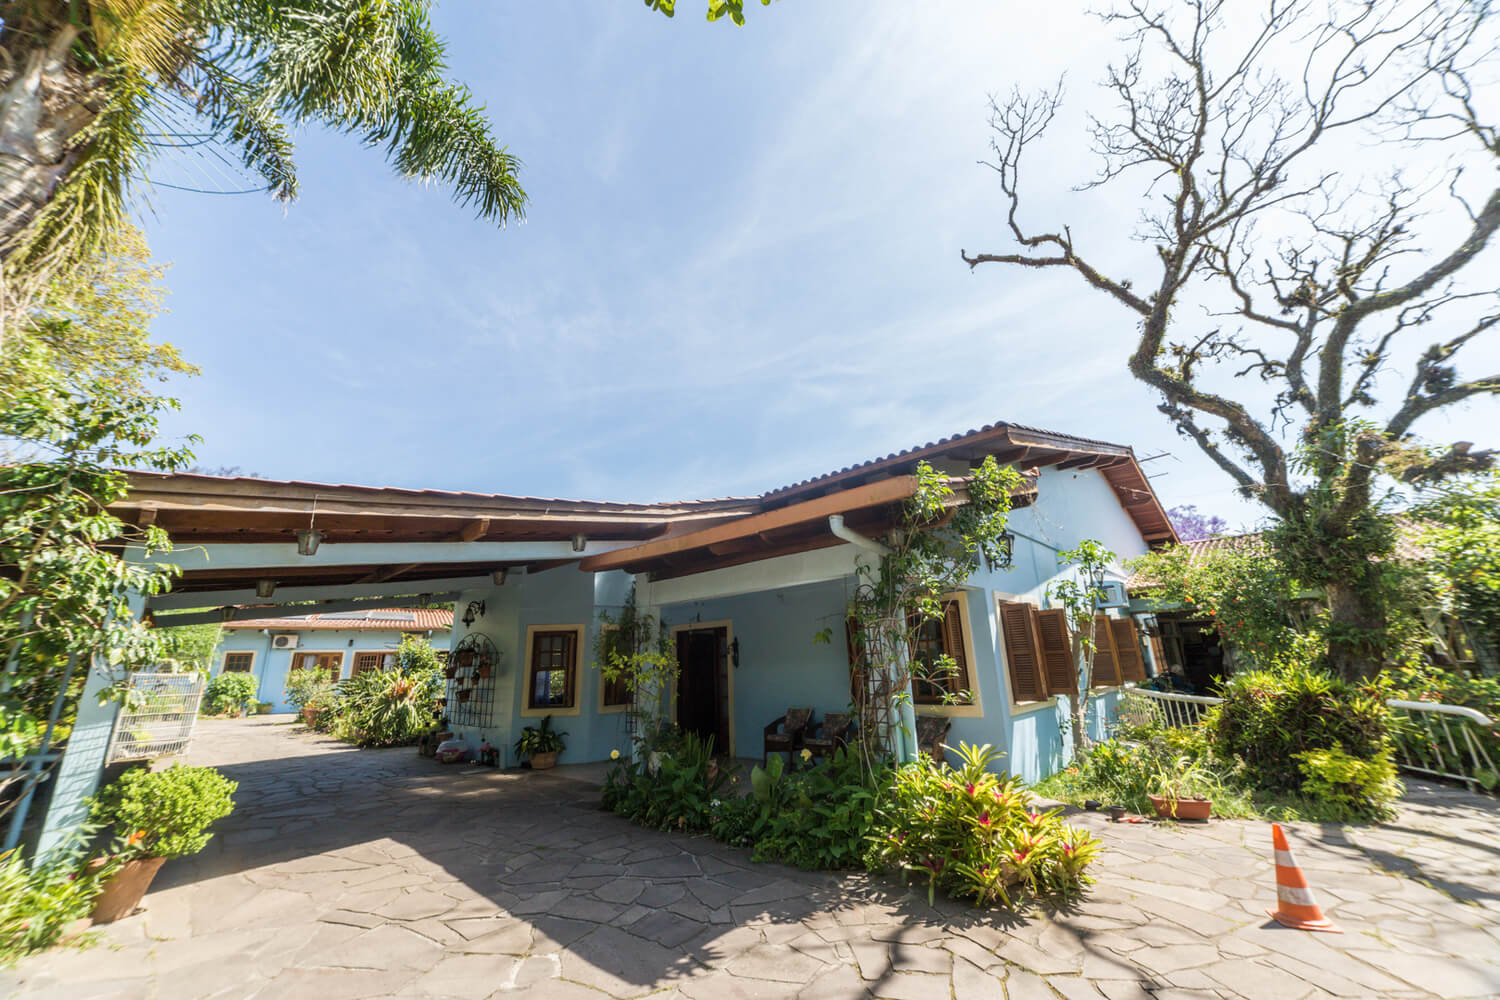
{"type": "MultiPolygon", "coordinates": [[[[135,912],[168,858],[195,855],[208,826],[234,810],[238,786],[213,768],[134,769],[98,795],[92,819],[114,829],[118,865],[94,901],[94,924],[135,912]]],[[[96,859],[99,867],[108,859],[96,859]]]]}

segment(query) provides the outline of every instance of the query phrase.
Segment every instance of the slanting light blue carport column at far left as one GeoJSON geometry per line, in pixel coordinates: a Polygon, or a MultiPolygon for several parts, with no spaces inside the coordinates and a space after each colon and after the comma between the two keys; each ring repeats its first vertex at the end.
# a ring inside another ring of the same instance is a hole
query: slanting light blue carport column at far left
{"type": "MultiPolygon", "coordinates": [[[[146,598],[132,592],[126,595],[126,606],[130,609],[130,616],[140,621],[146,610],[146,598]]],[[[110,754],[110,738],[114,736],[114,718],[120,712],[117,700],[100,703],[99,696],[122,679],[123,669],[110,663],[108,649],[80,655],[88,657],[88,678],[82,694],[78,696],[78,718],[68,736],[68,750],[57,763],[57,775],[52,778],[51,802],[36,844],[38,858],[62,847],[69,834],[88,819],[88,798],[99,789],[99,778],[110,754]]]]}

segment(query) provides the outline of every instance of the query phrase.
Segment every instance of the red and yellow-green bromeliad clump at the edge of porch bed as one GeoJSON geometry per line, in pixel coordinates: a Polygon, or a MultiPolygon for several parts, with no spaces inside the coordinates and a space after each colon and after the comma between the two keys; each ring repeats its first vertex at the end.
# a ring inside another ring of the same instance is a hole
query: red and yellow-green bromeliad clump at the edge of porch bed
{"type": "Polygon", "coordinates": [[[994,774],[999,753],[957,748],[958,769],[922,757],[894,772],[870,835],[872,867],[902,871],[975,906],[1016,906],[1017,891],[1071,895],[1092,882],[1102,844],[1040,811],[1020,778],[994,774]]]}

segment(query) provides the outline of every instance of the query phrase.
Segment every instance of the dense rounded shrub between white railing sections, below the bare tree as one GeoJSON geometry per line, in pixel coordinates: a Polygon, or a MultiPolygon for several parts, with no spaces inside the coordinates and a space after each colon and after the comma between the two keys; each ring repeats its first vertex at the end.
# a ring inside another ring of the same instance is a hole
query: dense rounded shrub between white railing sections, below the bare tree
{"type": "Polygon", "coordinates": [[[1224,684],[1224,705],[1208,714],[1214,750],[1236,757],[1269,790],[1296,792],[1299,754],[1335,747],[1376,760],[1390,747],[1388,693],[1352,684],[1299,663],[1238,673],[1224,684]]]}

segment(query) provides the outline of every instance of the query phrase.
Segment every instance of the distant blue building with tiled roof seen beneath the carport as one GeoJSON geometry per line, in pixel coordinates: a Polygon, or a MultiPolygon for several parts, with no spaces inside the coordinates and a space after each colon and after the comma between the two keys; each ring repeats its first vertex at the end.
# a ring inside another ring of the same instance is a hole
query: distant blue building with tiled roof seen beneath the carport
{"type": "Polygon", "coordinates": [[[333,681],[381,670],[394,663],[402,636],[422,636],[436,649],[447,651],[452,628],[452,607],[231,619],[224,624],[213,652],[213,675],[249,673],[255,678],[255,700],[270,702],[276,712],[290,712],[286,675],[291,670],[316,667],[327,670],[333,681]]]}

